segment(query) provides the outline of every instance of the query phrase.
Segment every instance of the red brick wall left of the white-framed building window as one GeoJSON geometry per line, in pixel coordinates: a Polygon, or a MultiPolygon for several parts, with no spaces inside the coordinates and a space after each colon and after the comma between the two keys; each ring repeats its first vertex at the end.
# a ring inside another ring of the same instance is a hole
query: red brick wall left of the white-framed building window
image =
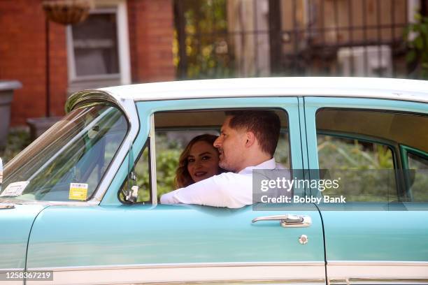
{"type": "MultiPolygon", "coordinates": [[[[45,16],[40,1],[0,1],[0,79],[22,82],[15,91],[11,124],[45,115],[45,16]]],[[[50,24],[51,113],[64,114],[67,70],[65,29],[50,24]]]]}

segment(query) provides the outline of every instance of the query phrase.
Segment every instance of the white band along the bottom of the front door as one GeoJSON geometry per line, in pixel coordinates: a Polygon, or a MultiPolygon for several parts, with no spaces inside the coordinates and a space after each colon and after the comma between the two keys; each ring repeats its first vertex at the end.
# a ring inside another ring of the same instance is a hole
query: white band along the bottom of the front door
{"type": "MultiPolygon", "coordinates": [[[[28,270],[36,270],[30,268],[28,270]]],[[[52,284],[325,284],[324,262],[178,263],[38,268],[52,270],[52,284]]],[[[32,284],[27,282],[27,284],[32,284]]],[[[36,284],[36,283],[34,283],[36,284]]],[[[46,284],[49,284],[46,282],[46,284]]]]}

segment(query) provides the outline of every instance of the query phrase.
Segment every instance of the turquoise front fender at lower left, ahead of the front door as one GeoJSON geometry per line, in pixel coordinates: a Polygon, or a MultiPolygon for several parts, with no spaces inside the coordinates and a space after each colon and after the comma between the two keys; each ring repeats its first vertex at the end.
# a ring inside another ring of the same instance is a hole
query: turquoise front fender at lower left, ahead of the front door
{"type": "Polygon", "coordinates": [[[37,215],[48,205],[0,202],[0,269],[25,268],[27,242],[37,215]]]}

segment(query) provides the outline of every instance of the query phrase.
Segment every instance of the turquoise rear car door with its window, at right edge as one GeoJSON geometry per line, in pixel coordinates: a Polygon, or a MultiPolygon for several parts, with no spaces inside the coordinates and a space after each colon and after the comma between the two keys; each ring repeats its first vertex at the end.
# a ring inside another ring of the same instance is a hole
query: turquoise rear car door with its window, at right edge
{"type": "Polygon", "coordinates": [[[340,191],[313,191],[347,199],[319,206],[330,284],[427,282],[428,105],[374,98],[304,102],[308,166],[346,180],[340,191]],[[409,159],[417,170],[409,172],[409,159]]]}

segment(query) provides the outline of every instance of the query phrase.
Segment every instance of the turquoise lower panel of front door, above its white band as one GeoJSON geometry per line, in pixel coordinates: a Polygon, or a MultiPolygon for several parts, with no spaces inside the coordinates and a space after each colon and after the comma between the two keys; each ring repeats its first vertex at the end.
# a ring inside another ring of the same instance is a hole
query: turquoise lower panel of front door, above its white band
{"type": "Polygon", "coordinates": [[[106,266],[280,264],[283,277],[291,277],[297,264],[308,263],[313,265],[308,275],[314,277],[318,272],[316,277],[323,279],[322,223],[315,206],[308,207],[312,210],[291,206],[283,214],[310,215],[311,226],[283,228],[278,221],[252,224],[255,217],[280,214],[255,212],[252,206],[52,206],[34,223],[27,267],[62,271],[106,266]],[[302,234],[308,236],[308,244],[299,244],[302,234]]]}

